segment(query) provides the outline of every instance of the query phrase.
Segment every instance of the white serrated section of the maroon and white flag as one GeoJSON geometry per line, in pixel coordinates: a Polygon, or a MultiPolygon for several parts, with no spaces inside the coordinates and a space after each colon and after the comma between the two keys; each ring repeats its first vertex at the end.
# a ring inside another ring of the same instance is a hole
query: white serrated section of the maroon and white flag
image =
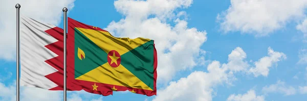
{"type": "Polygon", "coordinates": [[[20,16],[20,86],[42,89],[51,89],[57,86],[45,77],[45,75],[57,71],[45,62],[57,57],[55,53],[45,47],[45,45],[58,41],[45,32],[54,27],[56,26],[52,24],[20,16]]]}

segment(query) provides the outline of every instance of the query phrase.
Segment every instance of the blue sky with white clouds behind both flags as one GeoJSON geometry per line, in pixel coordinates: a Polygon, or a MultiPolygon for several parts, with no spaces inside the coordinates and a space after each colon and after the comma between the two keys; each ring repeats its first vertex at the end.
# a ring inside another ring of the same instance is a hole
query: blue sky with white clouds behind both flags
{"type": "MultiPolygon", "coordinates": [[[[68,16],[117,37],[155,40],[157,96],[68,92],[79,100],[305,100],[307,0],[1,0],[0,100],[15,100],[15,4],[63,28],[68,16]]],[[[21,87],[21,100],[62,100],[61,91],[21,87]]]]}

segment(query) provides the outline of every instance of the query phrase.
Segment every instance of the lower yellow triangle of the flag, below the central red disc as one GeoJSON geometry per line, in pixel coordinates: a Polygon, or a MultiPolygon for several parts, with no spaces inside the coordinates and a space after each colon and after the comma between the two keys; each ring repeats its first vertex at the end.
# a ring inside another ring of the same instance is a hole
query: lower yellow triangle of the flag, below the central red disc
{"type": "Polygon", "coordinates": [[[76,80],[152,90],[121,64],[114,68],[108,63],[105,63],[81,75],[76,80]]]}

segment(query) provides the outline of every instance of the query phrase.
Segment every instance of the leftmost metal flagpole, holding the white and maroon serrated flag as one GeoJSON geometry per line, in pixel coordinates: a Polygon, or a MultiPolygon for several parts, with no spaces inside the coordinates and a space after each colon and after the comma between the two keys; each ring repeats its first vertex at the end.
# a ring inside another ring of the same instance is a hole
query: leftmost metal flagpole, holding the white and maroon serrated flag
{"type": "Polygon", "coordinates": [[[19,101],[19,9],[20,5],[16,4],[16,101],[19,101]]]}

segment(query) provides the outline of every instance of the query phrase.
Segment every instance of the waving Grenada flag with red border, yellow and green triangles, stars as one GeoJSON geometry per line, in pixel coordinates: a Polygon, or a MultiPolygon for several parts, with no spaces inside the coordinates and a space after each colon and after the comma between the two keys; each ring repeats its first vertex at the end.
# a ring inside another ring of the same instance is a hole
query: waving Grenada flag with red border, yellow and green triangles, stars
{"type": "Polygon", "coordinates": [[[156,95],[157,52],[153,40],[116,38],[68,18],[67,41],[68,78],[85,91],[104,94],[129,90],[156,95]]]}

